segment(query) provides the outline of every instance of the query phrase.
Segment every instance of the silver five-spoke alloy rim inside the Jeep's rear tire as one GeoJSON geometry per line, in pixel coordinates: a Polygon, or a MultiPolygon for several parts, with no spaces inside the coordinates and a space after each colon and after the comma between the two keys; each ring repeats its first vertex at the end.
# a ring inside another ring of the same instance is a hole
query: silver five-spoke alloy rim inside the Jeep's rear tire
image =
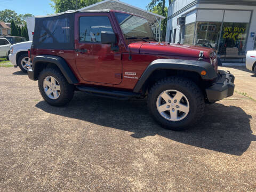
{"type": "Polygon", "coordinates": [[[60,84],[54,77],[45,77],[43,86],[45,94],[50,99],[58,99],[60,97],[60,84]]]}

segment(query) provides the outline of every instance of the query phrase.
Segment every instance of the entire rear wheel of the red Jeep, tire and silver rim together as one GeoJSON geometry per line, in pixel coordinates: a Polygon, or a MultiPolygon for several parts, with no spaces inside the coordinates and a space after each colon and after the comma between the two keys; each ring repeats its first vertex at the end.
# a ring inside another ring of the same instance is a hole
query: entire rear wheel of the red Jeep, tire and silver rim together
{"type": "Polygon", "coordinates": [[[74,95],[74,85],[69,84],[59,69],[45,68],[38,77],[39,91],[52,106],[66,105],[74,95]]]}

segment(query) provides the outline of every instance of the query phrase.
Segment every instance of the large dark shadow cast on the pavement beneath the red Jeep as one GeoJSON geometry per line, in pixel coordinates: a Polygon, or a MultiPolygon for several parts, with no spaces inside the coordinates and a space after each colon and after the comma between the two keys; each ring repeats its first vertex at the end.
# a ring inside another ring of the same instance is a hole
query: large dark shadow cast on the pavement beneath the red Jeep
{"type": "Polygon", "coordinates": [[[119,101],[95,98],[78,92],[66,107],[53,107],[45,101],[36,107],[46,113],[75,118],[97,125],[133,132],[134,138],[162,137],[231,155],[242,155],[256,141],[250,115],[235,106],[206,105],[205,115],[193,129],[174,132],[163,129],[150,117],[145,100],[119,101]]]}

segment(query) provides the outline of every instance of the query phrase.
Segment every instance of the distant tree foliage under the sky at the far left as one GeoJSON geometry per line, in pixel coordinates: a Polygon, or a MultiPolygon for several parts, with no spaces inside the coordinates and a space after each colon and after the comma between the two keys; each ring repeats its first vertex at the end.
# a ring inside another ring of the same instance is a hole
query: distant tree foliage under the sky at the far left
{"type": "Polygon", "coordinates": [[[4,22],[11,22],[13,20],[15,23],[25,24],[26,18],[28,17],[33,17],[33,14],[26,13],[18,15],[15,11],[8,9],[0,11],[0,21],[4,22]]]}

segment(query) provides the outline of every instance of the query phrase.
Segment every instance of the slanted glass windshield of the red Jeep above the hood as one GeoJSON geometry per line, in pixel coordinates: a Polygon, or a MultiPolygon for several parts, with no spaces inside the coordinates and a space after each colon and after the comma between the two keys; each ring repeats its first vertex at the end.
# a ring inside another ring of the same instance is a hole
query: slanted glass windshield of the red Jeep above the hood
{"type": "Polygon", "coordinates": [[[124,38],[130,41],[156,41],[148,20],[126,13],[115,13],[124,38]]]}

